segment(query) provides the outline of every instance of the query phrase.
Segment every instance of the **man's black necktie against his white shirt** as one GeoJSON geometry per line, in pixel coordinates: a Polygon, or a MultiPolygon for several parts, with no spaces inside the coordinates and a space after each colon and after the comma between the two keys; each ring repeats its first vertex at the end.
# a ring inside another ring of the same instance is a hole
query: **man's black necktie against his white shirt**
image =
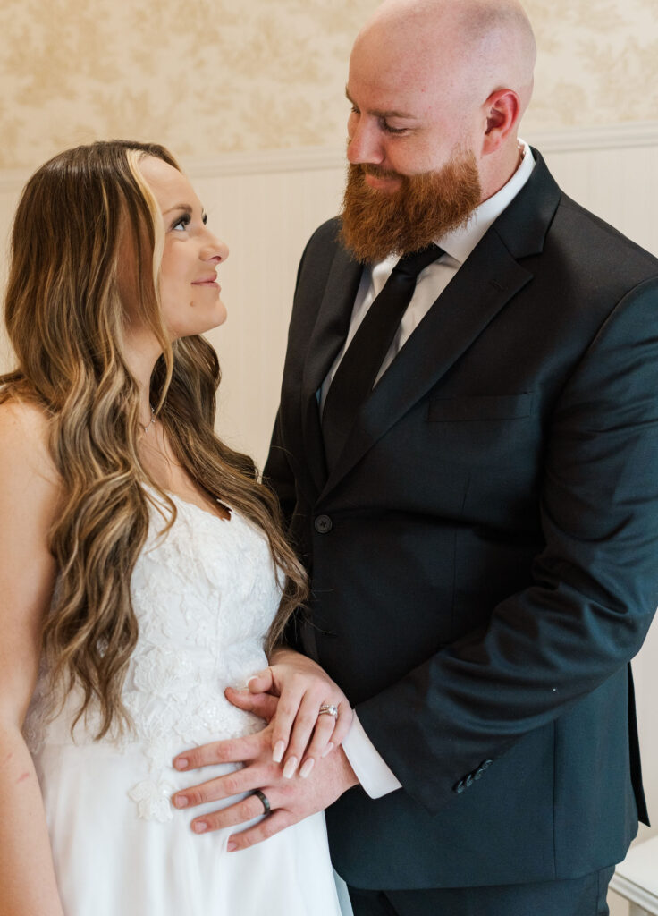
{"type": "Polygon", "coordinates": [[[329,470],[342,452],[361,404],[372,391],[414,295],[418,274],[442,254],[437,245],[430,245],[414,255],[401,257],[345,351],[322,411],[322,436],[329,470]]]}

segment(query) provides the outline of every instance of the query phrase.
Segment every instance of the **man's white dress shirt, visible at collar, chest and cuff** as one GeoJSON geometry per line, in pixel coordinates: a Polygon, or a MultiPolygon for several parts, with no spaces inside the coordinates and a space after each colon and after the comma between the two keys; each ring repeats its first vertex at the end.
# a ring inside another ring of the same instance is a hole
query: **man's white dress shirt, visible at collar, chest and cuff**
{"type": "MultiPolygon", "coordinates": [[[[522,150],[523,158],[507,184],[488,200],[480,203],[480,206],[471,214],[469,222],[465,226],[444,235],[442,238],[435,239],[436,244],[443,249],[445,254],[418,275],[414,295],[402,316],[393,344],[391,344],[391,348],[384,357],[382,368],[375,379],[375,385],[394,361],[395,356],[400,352],[409,337],[414,333],[415,328],[425,318],[437,297],[446,289],[448,283],[455,276],[473,248],[478,245],[491,224],[498,219],[502,211],[509,206],[514,197],[521,191],[525,182],[530,178],[534,169],[533,154],[530,147],[523,140],[519,140],[519,146],[522,150]]],[[[336,374],[340,360],[351,344],[351,340],[363,321],[366,312],[370,309],[373,300],[379,295],[384,283],[391,276],[398,260],[398,255],[392,255],[370,269],[368,267],[363,269],[345,344],[329,369],[329,375],[325,378],[318,392],[320,410],[324,407],[331,380],[336,374]]],[[[371,798],[380,798],[388,792],[402,788],[402,783],[394,775],[393,770],[384,762],[382,756],[366,735],[356,714],[354,714],[350,733],[344,739],[342,747],[350,761],[351,768],[361,782],[363,790],[371,798]]]]}

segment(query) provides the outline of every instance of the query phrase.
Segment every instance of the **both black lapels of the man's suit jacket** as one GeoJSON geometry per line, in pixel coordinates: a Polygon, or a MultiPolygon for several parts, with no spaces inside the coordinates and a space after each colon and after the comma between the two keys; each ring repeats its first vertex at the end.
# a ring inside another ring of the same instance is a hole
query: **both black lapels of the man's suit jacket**
{"type": "Polygon", "coordinates": [[[533,153],[536,164],[530,180],[484,235],[375,387],[328,479],[317,392],[347,336],[361,280],[361,265],[337,245],[308,340],[300,389],[304,463],[320,497],[425,397],[533,278],[517,259],[542,252],[561,197],[544,159],[536,150],[533,153]]]}

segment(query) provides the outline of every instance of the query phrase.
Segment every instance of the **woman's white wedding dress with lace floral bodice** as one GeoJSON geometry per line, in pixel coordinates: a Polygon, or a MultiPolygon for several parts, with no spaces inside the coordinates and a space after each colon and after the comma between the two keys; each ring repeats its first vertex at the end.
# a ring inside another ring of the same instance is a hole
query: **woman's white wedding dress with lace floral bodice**
{"type": "Polygon", "coordinates": [[[175,810],[174,791],[235,769],[178,773],[180,751],[258,731],[225,699],[266,665],[264,635],[280,592],[264,535],[237,512],[222,520],[173,497],[164,538],[156,509],[131,582],[139,638],[123,698],[133,734],[71,737],[74,695],[55,717],[45,674],[25,734],[43,793],[66,916],[338,916],[323,814],[229,853],[239,828],[193,834],[218,802],[175,810]]]}

